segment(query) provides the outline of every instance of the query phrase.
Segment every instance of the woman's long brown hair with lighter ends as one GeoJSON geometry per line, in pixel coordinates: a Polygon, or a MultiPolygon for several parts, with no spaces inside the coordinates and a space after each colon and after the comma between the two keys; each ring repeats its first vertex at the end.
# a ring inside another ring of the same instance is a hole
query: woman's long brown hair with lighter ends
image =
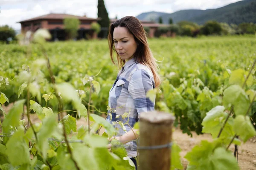
{"type": "MultiPolygon", "coordinates": [[[[134,36],[134,40],[137,43],[137,50],[134,53],[134,59],[135,61],[143,65],[146,65],[151,69],[154,76],[155,87],[159,87],[161,80],[160,80],[160,76],[157,74],[157,63],[149,48],[146,32],[144,31],[144,28],[140,23],[140,20],[138,20],[136,17],[131,17],[131,16],[123,17],[111,24],[109,28],[109,34],[108,34],[108,45],[109,45],[110,57],[112,62],[115,64],[113,60],[113,51],[116,52],[116,49],[114,46],[114,40],[113,40],[113,32],[114,32],[114,28],[118,26],[127,28],[128,31],[134,36]]],[[[122,66],[125,65],[125,60],[121,59],[121,57],[117,52],[116,52],[116,55],[117,55],[118,65],[121,68],[122,66]]]]}

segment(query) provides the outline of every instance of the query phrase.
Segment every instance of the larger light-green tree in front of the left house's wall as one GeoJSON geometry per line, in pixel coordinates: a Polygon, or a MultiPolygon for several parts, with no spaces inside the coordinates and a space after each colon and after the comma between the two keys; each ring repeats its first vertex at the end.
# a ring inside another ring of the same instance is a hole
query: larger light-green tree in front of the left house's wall
{"type": "Polygon", "coordinates": [[[79,25],[80,21],[78,18],[69,17],[64,19],[64,28],[67,31],[68,37],[70,39],[76,38],[79,25]]]}

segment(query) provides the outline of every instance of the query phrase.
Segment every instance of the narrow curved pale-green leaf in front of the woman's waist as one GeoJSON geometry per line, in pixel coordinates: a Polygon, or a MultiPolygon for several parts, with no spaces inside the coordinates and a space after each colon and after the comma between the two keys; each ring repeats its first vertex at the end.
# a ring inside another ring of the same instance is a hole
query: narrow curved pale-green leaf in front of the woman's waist
{"type": "Polygon", "coordinates": [[[96,114],[90,114],[90,120],[104,127],[108,134],[108,137],[112,137],[114,135],[115,133],[114,127],[108,121],[106,121],[103,117],[98,116],[96,114]]]}

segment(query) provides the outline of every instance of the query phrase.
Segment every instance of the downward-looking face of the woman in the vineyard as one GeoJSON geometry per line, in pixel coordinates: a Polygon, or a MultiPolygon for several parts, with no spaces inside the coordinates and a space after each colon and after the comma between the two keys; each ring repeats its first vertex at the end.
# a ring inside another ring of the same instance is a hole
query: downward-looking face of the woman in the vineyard
{"type": "Polygon", "coordinates": [[[116,52],[121,59],[131,59],[137,49],[134,36],[129,33],[126,27],[116,27],[113,32],[113,40],[116,52]]]}

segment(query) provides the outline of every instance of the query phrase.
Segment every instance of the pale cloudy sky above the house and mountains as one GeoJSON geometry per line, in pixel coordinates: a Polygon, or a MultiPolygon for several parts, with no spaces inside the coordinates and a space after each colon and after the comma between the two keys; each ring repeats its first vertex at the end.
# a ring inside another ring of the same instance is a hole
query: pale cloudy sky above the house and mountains
{"type": "MultiPolygon", "coordinates": [[[[182,9],[219,8],[239,0],[104,0],[110,18],[137,16],[143,12],[172,13],[182,9]]],[[[97,17],[98,0],[0,0],[0,26],[20,29],[21,20],[49,13],[97,17]]]]}

